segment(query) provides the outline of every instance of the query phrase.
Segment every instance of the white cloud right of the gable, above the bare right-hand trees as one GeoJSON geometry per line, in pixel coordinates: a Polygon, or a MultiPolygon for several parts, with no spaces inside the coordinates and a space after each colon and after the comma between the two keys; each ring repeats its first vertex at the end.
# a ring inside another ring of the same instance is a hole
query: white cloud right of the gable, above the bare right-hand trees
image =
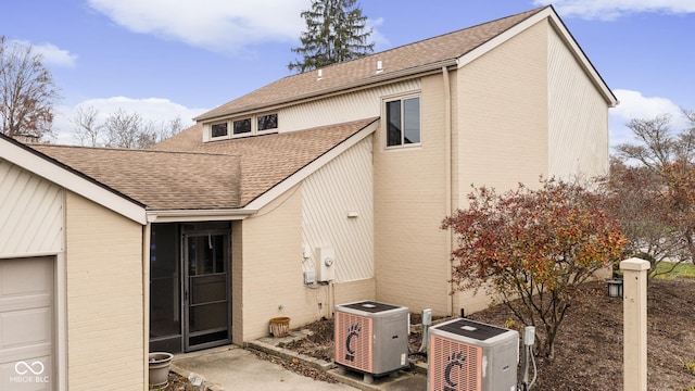
{"type": "Polygon", "coordinates": [[[659,115],[670,115],[673,130],[685,128],[687,122],[678,104],[666,98],[645,97],[640,91],[616,89],[612,91],[620,104],[610,109],[608,122],[610,127],[610,146],[635,141],[626,125],[631,119],[652,119],[659,115]]]}

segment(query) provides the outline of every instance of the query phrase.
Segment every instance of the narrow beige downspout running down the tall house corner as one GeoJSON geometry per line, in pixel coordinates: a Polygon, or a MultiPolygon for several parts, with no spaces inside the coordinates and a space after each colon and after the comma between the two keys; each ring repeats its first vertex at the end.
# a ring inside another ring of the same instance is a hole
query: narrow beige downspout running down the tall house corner
{"type": "MultiPolygon", "coordinates": [[[[444,83],[444,193],[445,193],[445,216],[451,216],[452,214],[452,89],[450,86],[448,79],[448,68],[446,66],[442,66],[442,76],[444,83]]],[[[447,229],[448,232],[446,235],[446,249],[447,255],[452,253],[454,250],[452,247],[453,243],[453,231],[451,228],[447,229]]],[[[448,279],[452,279],[452,268],[448,267],[448,279]]],[[[453,291],[453,282],[450,287],[450,292],[453,291]]],[[[450,298],[450,308],[448,314],[454,315],[454,294],[451,294],[450,298]]]]}

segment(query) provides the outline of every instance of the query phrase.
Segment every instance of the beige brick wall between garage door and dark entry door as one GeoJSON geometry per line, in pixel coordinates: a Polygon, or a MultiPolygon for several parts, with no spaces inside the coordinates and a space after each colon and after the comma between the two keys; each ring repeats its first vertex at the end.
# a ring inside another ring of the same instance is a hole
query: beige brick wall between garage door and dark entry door
{"type": "Polygon", "coordinates": [[[142,226],[66,195],[71,390],[142,390],[142,226]]]}

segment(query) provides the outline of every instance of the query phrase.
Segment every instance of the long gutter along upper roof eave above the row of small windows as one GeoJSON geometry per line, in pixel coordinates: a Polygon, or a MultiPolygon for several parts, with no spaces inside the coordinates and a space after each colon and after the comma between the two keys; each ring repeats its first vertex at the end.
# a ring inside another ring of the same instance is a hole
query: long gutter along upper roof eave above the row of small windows
{"type": "Polygon", "coordinates": [[[211,116],[205,116],[203,114],[203,115],[194,117],[193,121],[195,121],[195,122],[208,122],[208,121],[216,121],[216,119],[226,118],[226,117],[229,117],[229,116],[244,115],[244,114],[248,114],[248,113],[256,112],[258,110],[269,110],[269,111],[278,110],[278,109],[281,109],[281,108],[285,108],[285,106],[288,106],[288,105],[291,105],[291,104],[304,103],[304,102],[308,102],[308,101],[314,101],[314,100],[318,100],[318,99],[328,98],[328,97],[336,96],[336,94],[341,94],[341,93],[346,93],[346,92],[354,92],[354,91],[358,91],[358,90],[363,90],[363,89],[374,88],[374,87],[377,87],[377,86],[380,86],[380,85],[383,85],[383,84],[392,84],[392,83],[404,80],[404,79],[410,79],[410,78],[415,78],[415,77],[422,77],[422,76],[427,76],[429,74],[437,74],[437,73],[441,72],[442,67],[456,66],[457,64],[458,64],[458,59],[442,60],[442,61],[438,61],[438,62],[434,62],[434,63],[419,65],[419,66],[415,66],[415,67],[410,67],[410,68],[400,70],[400,71],[394,71],[394,72],[389,72],[389,73],[381,73],[381,74],[378,74],[376,76],[368,77],[366,79],[361,79],[361,80],[352,81],[352,83],[349,83],[349,84],[345,84],[345,85],[340,85],[338,87],[328,88],[328,89],[325,89],[323,91],[309,92],[309,93],[292,97],[289,100],[279,101],[279,102],[277,102],[275,104],[271,104],[271,105],[254,104],[254,105],[250,105],[250,106],[245,106],[245,108],[240,108],[240,109],[235,110],[235,111],[229,111],[229,112],[226,112],[226,113],[223,113],[223,114],[215,114],[215,115],[211,115],[211,116]]]}

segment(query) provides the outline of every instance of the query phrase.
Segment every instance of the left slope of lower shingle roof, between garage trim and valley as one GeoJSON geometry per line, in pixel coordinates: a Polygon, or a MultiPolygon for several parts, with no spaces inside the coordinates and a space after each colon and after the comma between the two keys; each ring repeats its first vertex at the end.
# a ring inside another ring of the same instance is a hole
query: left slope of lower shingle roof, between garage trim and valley
{"type": "Polygon", "coordinates": [[[240,206],[240,156],[33,144],[148,209],[240,206]]]}

